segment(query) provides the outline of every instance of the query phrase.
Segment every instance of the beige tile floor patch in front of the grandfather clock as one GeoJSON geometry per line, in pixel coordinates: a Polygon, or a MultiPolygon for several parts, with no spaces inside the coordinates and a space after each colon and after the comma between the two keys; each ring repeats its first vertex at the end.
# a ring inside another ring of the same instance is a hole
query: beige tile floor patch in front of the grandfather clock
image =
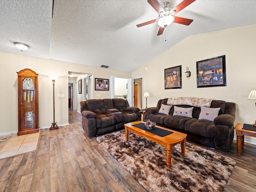
{"type": "Polygon", "coordinates": [[[27,135],[13,134],[12,138],[0,150],[0,159],[10,157],[38,149],[40,142],[40,130],[38,133],[27,135]]]}

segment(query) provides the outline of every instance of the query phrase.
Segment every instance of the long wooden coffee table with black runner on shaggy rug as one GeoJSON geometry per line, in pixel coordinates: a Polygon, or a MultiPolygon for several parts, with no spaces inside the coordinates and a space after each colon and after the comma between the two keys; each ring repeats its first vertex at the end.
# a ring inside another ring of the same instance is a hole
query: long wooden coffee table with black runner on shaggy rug
{"type": "Polygon", "coordinates": [[[136,122],[131,122],[131,123],[127,123],[124,125],[125,128],[125,137],[126,137],[126,142],[128,141],[128,130],[131,132],[134,132],[140,136],[143,136],[145,138],[148,138],[149,140],[152,140],[162,146],[164,146],[166,148],[166,159],[167,159],[167,166],[170,167],[172,165],[172,148],[181,143],[181,154],[182,156],[185,155],[185,147],[186,147],[186,138],[187,135],[184,133],[180,133],[178,131],[174,131],[174,130],[170,130],[167,128],[163,128],[160,126],[156,126],[160,129],[164,129],[164,130],[168,130],[168,131],[172,131],[172,134],[169,134],[167,136],[161,137],[158,136],[156,134],[153,134],[151,132],[142,130],[140,128],[137,128],[133,125],[135,124],[139,124],[139,123],[143,123],[142,121],[136,121],[136,122]]]}

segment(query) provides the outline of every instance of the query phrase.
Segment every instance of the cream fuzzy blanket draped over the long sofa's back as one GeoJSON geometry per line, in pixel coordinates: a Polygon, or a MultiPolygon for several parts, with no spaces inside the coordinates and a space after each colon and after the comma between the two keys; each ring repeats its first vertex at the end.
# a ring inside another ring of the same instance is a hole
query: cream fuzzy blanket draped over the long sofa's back
{"type": "Polygon", "coordinates": [[[195,107],[210,107],[214,99],[197,98],[197,97],[170,97],[168,98],[168,105],[191,105],[195,107]]]}

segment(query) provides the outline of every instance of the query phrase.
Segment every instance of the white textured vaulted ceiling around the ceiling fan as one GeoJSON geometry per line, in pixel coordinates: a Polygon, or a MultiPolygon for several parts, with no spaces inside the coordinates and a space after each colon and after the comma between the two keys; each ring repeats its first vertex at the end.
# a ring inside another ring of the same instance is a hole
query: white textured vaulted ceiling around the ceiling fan
{"type": "Polygon", "coordinates": [[[255,10],[256,0],[196,0],[176,14],[190,26],[157,36],[157,23],[136,27],[158,18],[147,0],[54,0],[53,19],[52,0],[0,0],[0,51],[132,72],[190,35],[256,24],[255,10]]]}

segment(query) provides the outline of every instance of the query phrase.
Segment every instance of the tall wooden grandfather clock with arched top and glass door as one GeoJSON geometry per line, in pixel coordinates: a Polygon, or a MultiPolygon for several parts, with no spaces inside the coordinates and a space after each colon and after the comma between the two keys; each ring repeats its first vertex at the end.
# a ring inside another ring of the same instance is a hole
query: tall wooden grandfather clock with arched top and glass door
{"type": "Polygon", "coordinates": [[[38,132],[38,74],[23,69],[18,74],[18,135],[38,132]]]}

